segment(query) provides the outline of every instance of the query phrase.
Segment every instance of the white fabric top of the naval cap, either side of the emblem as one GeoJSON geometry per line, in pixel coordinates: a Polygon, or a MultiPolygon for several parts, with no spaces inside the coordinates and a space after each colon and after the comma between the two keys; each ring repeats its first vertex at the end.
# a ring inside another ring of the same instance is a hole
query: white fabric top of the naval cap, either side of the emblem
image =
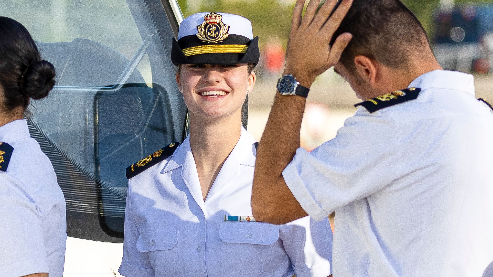
{"type": "MultiPolygon", "coordinates": [[[[209,12],[200,12],[185,18],[180,23],[180,27],[178,29],[178,40],[187,35],[197,35],[197,26],[204,23],[204,17],[207,14],[209,14],[209,12]]],[[[222,16],[222,22],[229,25],[230,35],[243,35],[250,40],[253,39],[253,31],[250,20],[237,14],[223,12],[219,14],[222,16]]]]}

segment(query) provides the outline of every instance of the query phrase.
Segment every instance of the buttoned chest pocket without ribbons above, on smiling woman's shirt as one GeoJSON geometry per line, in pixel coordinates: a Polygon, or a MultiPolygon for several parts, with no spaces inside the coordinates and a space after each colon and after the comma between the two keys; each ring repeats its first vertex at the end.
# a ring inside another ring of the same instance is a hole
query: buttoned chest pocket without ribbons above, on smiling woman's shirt
{"type": "Polygon", "coordinates": [[[139,252],[149,252],[172,249],[176,242],[178,242],[178,228],[165,227],[141,231],[136,246],[139,252]]]}

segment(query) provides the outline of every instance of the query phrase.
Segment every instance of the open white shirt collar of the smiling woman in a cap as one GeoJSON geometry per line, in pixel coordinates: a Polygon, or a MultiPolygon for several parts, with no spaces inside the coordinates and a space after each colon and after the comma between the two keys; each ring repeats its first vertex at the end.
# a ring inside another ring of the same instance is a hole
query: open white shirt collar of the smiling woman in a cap
{"type": "MultiPolygon", "coordinates": [[[[242,127],[242,134],[238,143],[236,143],[233,151],[228,156],[226,163],[236,163],[245,166],[255,166],[256,149],[254,143],[256,142],[246,130],[242,127]]],[[[187,136],[185,140],[178,146],[175,153],[171,157],[170,161],[164,167],[162,173],[174,170],[185,163],[187,155],[192,155],[192,149],[190,148],[190,136],[187,136]]],[[[224,167],[224,165],[223,165],[224,167]]]]}

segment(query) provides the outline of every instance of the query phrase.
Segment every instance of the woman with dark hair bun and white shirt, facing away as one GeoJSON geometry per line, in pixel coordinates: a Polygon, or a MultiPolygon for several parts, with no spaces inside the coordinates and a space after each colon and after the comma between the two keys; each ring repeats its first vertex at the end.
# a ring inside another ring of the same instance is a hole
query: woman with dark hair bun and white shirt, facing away
{"type": "Polygon", "coordinates": [[[62,277],[65,199],[24,113],[55,84],[29,32],[0,17],[0,276],[62,277]]]}

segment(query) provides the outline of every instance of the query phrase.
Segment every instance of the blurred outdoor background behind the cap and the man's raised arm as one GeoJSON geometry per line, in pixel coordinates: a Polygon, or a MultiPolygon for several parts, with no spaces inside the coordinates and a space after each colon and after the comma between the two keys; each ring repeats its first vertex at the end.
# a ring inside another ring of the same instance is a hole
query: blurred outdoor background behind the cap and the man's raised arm
{"type": "MultiPolygon", "coordinates": [[[[252,21],[260,37],[257,85],[249,96],[248,131],[260,139],[284,63],[295,0],[178,0],[186,17],[196,12],[240,14],[252,21]]],[[[307,0],[308,2],[308,0],[307,0]]],[[[444,69],[475,75],[477,97],[493,101],[493,1],[403,0],[428,32],[444,69]]],[[[302,146],[313,149],[334,138],[360,102],[332,69],[312,87],[302,127],[302,146]]]]}

